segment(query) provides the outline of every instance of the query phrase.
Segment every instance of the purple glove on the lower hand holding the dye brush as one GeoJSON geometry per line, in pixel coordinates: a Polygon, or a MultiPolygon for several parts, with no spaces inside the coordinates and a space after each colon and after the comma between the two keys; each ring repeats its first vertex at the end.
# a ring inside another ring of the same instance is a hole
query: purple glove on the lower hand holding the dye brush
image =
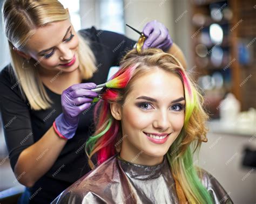
{"type": "Polygon", "coordinates": [[[56,119],[58,131],[67,139],[71,139],[76,132],[79,114],[89,108],[94,97],[98,94],[90,89],[96,87],[95,83],[78,83],[72,85],[62,93],[62,110],[56,119]]]}

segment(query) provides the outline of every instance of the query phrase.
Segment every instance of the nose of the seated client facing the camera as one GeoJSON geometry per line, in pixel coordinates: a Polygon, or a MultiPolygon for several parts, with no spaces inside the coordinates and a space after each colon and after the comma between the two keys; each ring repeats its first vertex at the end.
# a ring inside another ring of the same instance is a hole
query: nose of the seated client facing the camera
{"type": "Polygon", "coordinates": [[[166,110],[156,112],[154,116],[153,126],[159,129],[160,132],[165,132],[171,128],[171,122],[169,119],[169,113],[166,110]]]}

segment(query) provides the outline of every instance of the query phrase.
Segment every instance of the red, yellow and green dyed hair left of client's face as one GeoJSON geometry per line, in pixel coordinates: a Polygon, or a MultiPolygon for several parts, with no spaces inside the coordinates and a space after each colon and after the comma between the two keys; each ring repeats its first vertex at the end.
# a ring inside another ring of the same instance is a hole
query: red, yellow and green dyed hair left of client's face
{"type": "MultiPolygon", "coordinates": [[[[130,81],[132,74],[136,66],[130,66],[125,71],[120,69],[116,74],[114,74],[110,81],[106,83],[108,88],[125,88],[127,83],[130,81]]],[[[105,93],[102,94],[102,99],[97,103],[94,111],[94,118],[96,118],[96,114],[100,109],[103,112],[103,116],[98,118],[99,121],[95,121],[96,123],[96,135],[91,136],[86,143],[85,151],[87,156],[89,157],[89,164],[92,165],[91,157],[93,154],[97,152],[97,163],[103,163],[107,158],[114,155],[115,139],[118,134],[119,125],[117,121],[112,121],[112,116],[110,114],[110,105],[106,102],[109,100],[116,100],[117,92],[112,89],[107,89],[105,93]],[[106,101],[105,101],[106,100],[106,101]],[[101,131],[102,127],[108,123],[106,128],[101,131]],[[88,151],[87,151],[88,150],[88,151]]]]}

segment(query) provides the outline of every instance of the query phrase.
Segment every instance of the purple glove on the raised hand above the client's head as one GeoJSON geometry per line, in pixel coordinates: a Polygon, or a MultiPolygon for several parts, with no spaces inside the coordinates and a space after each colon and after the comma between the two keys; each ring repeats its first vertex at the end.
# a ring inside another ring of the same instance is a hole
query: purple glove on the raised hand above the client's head
{"type": "Polygon", "coordinates": [[[173,42],[169,35],[169,30],[157,20],[147,23],[142,32],[147,37],[142,47],[143,49],[156,47],[166,52],[172,46],[173,42]]]}

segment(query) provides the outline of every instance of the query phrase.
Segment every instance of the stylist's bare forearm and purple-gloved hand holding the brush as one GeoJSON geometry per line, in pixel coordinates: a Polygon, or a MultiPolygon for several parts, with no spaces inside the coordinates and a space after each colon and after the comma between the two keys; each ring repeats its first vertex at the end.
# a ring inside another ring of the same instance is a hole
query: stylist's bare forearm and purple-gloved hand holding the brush
{"type": "Polygon", "coordinates": [[[57,160],[68,139],[75,136],[79,122],[79,114],[90,107],[97,93],[90,89],[96,87],[95,83],[80,83],[64,90],[61,96],[62,110],[51,128],[35,144],[31,145],[19,156],[15,166],[16,177],[23,174],[19,182],[31,187],[46,172],[50,170],[57,160]],[[38,152],[45,152],[38,158],[38,152]],[[25,173],[24,173],[25,172],[25,173]]]}

